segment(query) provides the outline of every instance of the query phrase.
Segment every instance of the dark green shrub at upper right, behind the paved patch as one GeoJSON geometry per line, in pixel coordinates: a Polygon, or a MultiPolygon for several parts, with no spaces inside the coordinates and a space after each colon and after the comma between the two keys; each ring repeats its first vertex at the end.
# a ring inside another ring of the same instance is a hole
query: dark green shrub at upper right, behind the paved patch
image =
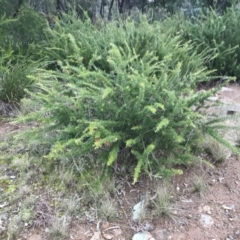
{"type": "Polygon", "coordinates": [[[177,15],[165,21],[173,35],[181,35],[183,41],[191,41],[198,53],[210,50],[214,57],[206,63],[208,69],[216,69],[218,76],[240,77],[240,12],[234,7],[223,14],[215,10],[202,13],[200,17],[186,19],[177,15]],[[174,31],[175,29],[175,31],[174,31]]]}

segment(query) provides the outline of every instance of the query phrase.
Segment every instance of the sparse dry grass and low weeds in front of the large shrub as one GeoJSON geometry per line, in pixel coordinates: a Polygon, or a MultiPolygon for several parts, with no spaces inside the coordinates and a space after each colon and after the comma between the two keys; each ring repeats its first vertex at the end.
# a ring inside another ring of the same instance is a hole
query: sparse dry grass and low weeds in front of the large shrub
{"type": "MultiPolygon", "coordinates": [[[[11,142],[11,138],[6,140],[5,138],[6,143],[11,142]]],[[[15,146],[15,152],[13,149],[11,152],[7,151],[15,156],[10,165],[1,160],[4,167],[1,169],[3,177],[0,184],[4,203],[7,203],[2,208],[2,213],[12,215],[12,212],[15,212],[11,218],[4,221],[7,226],[5,236],[9,239],[16,239],[23,234],[26,226],[43,229],[47,239],[67,239],[71,223],[76,219],[96,226],[99,221],[115,222],[126,218],[119,200],[125,199],[124,191],[130,191],[134,186],[124,172],[116,172],[114,178],[111,175],[103,178],[99,166],[96,166],[91,173],[85,172],[81,177],[76,167],[59,163],[49,175],[49,167],[51,169],[52,166],[41,164],[41,168],[36,168],[40,158],[22,155],[23,149],[20,145],[15,146]]],[[[156,184],[156,180],[152,186],[144,188],[144,192],[152,194],[146,198],[139,222],[132,225],[134,231],[144,229],[156,218],[167,217],[175,220],[176,209],[172,197],[176,192],[170,191],[171,187],[162,181],[156,184]]],[[[196,177],[189,184],[189,189],[200,196],[205,193],[206,180],[203,177],[196,177]]],[[[140,198],[135,198],[131,206],[138,201],[140,198]]],[[[130,226],[133,224],[131,215],[132,212],[127,212],[130,226]]]]}

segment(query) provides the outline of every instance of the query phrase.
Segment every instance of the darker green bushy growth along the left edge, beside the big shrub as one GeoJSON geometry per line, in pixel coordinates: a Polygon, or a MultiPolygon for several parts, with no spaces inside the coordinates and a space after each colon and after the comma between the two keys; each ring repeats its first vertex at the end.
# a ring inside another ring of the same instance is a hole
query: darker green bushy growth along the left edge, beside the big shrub
{"type": "Polygon", "coordinates": [[[41,42],[43,29],[47,26],[42,16],[26,6],[19,9],[16,17],[10,15],[0,19],[1,114],[8,114],[19,106],[25,89],[32,88],[33,81],[27,75],[34,71],[36,63],[31,59],[39,61],[35,57],[34,43],[41,42]]]}

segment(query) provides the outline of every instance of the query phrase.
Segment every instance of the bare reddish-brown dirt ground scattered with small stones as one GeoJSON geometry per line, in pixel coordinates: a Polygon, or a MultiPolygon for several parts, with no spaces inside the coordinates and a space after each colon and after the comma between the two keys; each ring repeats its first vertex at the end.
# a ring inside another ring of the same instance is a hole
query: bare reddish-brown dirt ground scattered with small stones
{"type": "MultiPolygon", "coordinates": [[[[240,103],[240,88],[230,86],[219,97],[231,103],[240,103]]],[[[17,126],[0,122],[0,135],[13,132],[17,126]]],[[[143,240],[237,240],[240,239],[240,161],[232,154],[227,161],[214,165],[198,164],[184,169],[184,174],[171,179],[169,188],[172,199],[172,214],[169,217],[148,218],[142,223],[132,221],[133,207],[144,196],[153,196],[154,187],[161,180],[151,181],[142,177],[134,186],[126,179],[119,179],[121,187],[116,191],[118,217],[111,222],[89,220],[87,216],[75,216],[71,223],[70,237],[73,240],[131,240],[136,232],[149,232],[143,240]],[[200,176],[204,189],[193,192],[193,179],[200,176]]],[[[0,199],[0,205],[1,205],[0,199]]],[[[91,212],[91,211],[89,211],[91,212]]],[[[90,213],[89,213],[90,214],[90,213]]],[[[0,206],[1,216],[1,206],[0,206]]],[[[0,219],[1,223],[1,219],[0,219]]],[[[0,224],[1,227],[1,224],[0,224]]],[[[18,240],[45,240],[47,228],[26,229],[18,240]]],[[[1,228],[0,228],[1,234],[1,228]]],[[[0,239],[5,235],[0,235],[0,239]]],[[[49,239],[51,240],[51,239],[49,239]]]]}

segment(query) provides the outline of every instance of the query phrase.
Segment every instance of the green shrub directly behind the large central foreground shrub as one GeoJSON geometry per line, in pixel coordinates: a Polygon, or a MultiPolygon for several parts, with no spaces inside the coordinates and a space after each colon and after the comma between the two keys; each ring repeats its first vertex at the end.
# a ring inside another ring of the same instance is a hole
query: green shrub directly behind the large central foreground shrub
{"type": "MultiPolygon", "coordinates": [[[[97,67],[109,72],[107,55],[111,48],[109,43],[113,43],[126,51],[126,46],[134,48],[139,57],[143,57],[147,52],[154,52],[159,61],[162,61],[164,57],[171,58],[173,66],[179,59],[183,64],[194,65],[194,54],[187,56],[180,50],[172,51],[173,42],[170,39],[175,35],[177,26],[176,24],[171,26],[172,20],[167,21],[169,23],[167,27],[159,22],[149,24],[150,21],[146,20],[145,16],[140,16],[138,22],[131,19],[113,21],[98,29],[88,18],[81,21],[75,13],[63,14],[60,20],[56,19],[55,27],[48,28],[45,32],[46,41],[40,45],[37,54],[39,58],[53,61],[55,69],[60,67],[59,61],[68,59],[71,64],[81,61],[86,68],[92,67],[94,70],[97,67]]],[[[182,36],[175,36],[174,39],[174,43],[178,45],[183,40],[182,36]]],[[[194,47],[192,46],[192,50],[194,47]]],[[[206,54],[206,50],[202,52],[206,54]]],[[[205,60],[206,63],[209,62],[209,59],[205,60]]],[[[183,69],[185,68],[183,66],[183,69]]],[[[189,66],[189,69],[191,68],[189,66]]]]}

